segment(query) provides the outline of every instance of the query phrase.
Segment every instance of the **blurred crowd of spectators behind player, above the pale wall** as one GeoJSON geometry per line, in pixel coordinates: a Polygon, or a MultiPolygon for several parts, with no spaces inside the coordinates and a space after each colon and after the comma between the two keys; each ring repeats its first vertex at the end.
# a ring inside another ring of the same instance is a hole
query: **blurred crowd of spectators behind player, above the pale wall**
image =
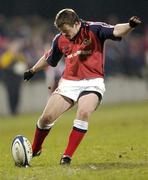
{"type": "MultiPolygon", "coordinates": [[[[116,24],[115,18],[108,21],[116,24]]],[[[53,22],[39,16],[0,15],[0,81],[6,87],[12,114],[17,114],[23,72],[51,47],[56,33],[53,22]]],[[[148,25],[142,33],[135,31],[121,42],[107,41],[105,49],[106,78],[122,75],[148,79],[148,25]]],[[[62,60],[57,68],[38,73],[34,81],[46,78],[54,90],[63,68],[62,60]]]]}

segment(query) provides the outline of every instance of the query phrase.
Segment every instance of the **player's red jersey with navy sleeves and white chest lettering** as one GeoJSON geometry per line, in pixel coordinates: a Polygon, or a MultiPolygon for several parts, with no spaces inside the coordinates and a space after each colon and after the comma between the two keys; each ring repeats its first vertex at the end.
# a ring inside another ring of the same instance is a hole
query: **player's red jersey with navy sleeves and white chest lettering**
{"type": "Polygon", "coordinates": [[[73,39],[67,39],[62,33],[55,36],[52,48],[45,54],[46,60],[55,67],[64,56],[64,79],[104,77],[104,42],[106,39],[121,39],[113,35],[113,30],[114,26],[105,23],[82,21],[73,39]]]}

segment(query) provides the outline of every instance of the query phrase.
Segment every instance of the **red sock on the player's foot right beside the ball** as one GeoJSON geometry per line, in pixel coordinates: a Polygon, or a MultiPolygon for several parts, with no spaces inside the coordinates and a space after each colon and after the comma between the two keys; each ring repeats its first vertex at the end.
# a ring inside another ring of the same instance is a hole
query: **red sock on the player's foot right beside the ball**
{"type": "Polygon", "coordinates": [[[48,135],[50,129],[45,130],[45,129],[39,129],[38,127],[36,127],[34,140],[33,140],[33,143],[32,143],[33,154],[35,154],[39,150],[41,150],[42,143],[43,143],[44,139],[46,138],[46,136],[48,135]]]}

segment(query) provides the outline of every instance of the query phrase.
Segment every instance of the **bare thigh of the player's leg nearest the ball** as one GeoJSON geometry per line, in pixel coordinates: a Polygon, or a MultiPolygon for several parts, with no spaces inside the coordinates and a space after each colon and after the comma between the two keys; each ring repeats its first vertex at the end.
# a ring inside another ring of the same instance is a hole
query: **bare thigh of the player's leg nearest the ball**
{"type": "Polygon", "coordinates": [[[72,106],[73,102],[70,99],[60,94],[52,94],[43,111],[43,116],[49,116],[55,120],[72,106]]]}

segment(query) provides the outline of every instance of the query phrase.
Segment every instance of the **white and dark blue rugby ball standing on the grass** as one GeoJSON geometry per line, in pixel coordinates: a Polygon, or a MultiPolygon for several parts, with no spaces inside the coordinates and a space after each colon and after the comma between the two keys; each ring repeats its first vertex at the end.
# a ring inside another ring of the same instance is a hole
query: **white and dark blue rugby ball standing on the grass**
{"type": "Polygon", "coordinates": [[[17,135],[13,139],[11,153],[16,166],[29,166],[29,163],[32,159],[32,147],[29,140],[26,137],[22,135],[17,135]]]}

